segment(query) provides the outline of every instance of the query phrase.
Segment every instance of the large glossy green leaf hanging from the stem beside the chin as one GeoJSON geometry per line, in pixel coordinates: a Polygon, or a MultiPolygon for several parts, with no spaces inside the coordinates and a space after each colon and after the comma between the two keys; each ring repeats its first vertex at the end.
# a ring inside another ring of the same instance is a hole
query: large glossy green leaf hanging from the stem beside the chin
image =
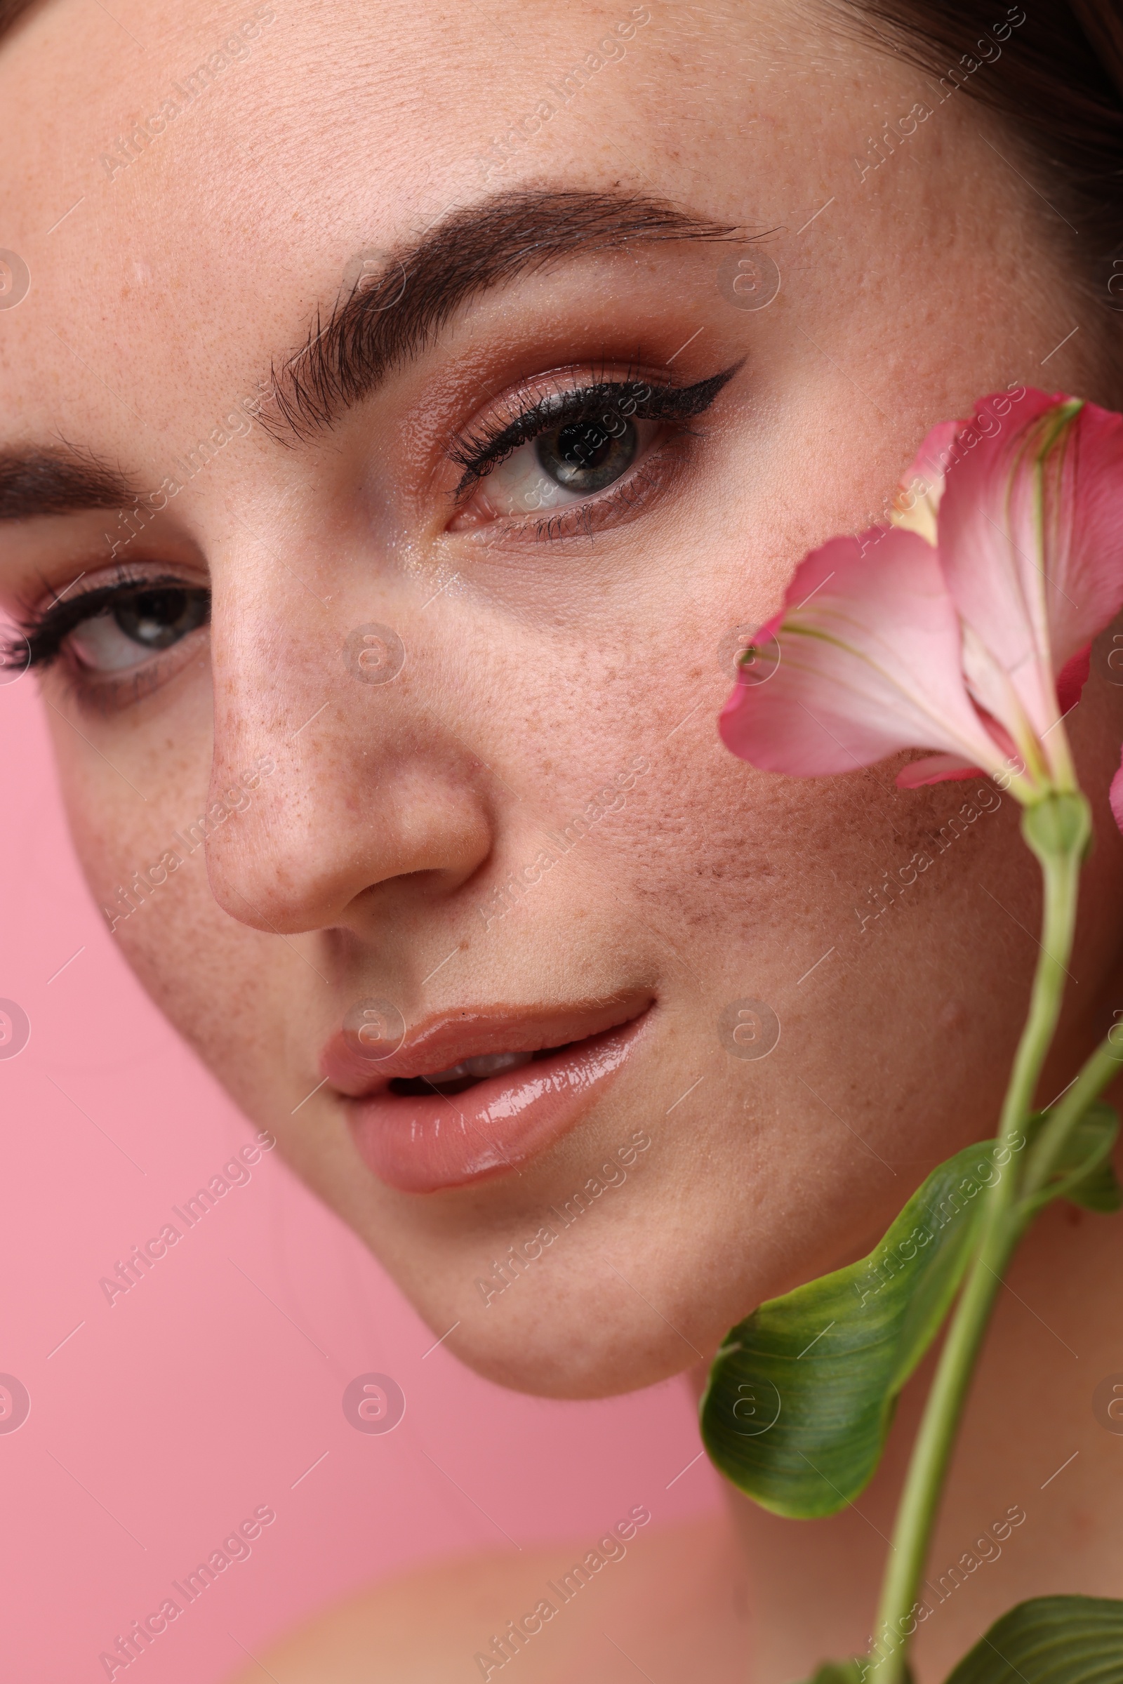
{"type": "Polygon", "coordinates": [[[897,1393],[966,1268],[993,1150],[983,1140],[956,1152],[867,1258],[769,1298],[726,1339],[702,1399],[702,1442],[761,1507],[835,1514],[872,1477],[897,1393]]]}

